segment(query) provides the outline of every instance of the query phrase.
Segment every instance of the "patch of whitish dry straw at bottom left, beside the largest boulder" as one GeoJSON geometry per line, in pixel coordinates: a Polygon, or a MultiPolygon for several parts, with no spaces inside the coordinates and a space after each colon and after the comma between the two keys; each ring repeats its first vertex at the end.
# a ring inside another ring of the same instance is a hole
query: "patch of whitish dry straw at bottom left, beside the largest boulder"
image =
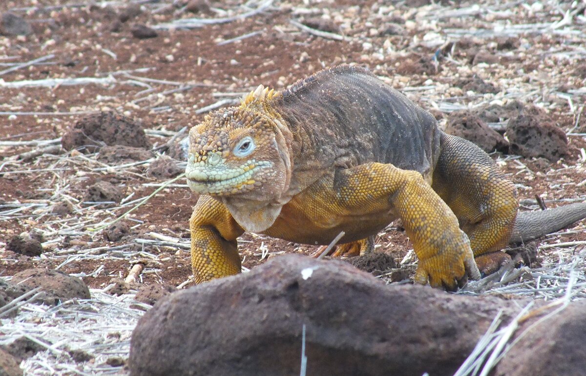
{"type": "Polygon", "coordinates": [[[25,374],[122,372],[122,367],[111,367],[106,360],[113,356],[128,358],[132,330],[150,306],[132,301],[134,295],[111,296],[96,289],[90,292],[91,299],[68,300],[55,307],[26,303],[14,319],[2,320],[0,344],[25,336],[48,350],[21,363],[25,374]],[[70,350],[84,351],[95,360],[76,364],[70,350]]]}

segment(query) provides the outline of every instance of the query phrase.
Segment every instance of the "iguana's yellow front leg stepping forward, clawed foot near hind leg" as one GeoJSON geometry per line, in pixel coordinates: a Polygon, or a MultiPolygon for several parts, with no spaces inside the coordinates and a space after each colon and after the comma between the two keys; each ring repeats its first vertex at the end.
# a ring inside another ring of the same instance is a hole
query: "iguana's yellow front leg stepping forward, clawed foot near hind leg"
{"type": "Polygon", "coordinates": [[[334,189],[339,207],[349,214],[377,213],[391,208],[403,220],[419,258],[415,282],[456,289],[466,279],[480,278],[470,242],[458,218],[423,176],[383,163],[340,170],[334,189]]]}

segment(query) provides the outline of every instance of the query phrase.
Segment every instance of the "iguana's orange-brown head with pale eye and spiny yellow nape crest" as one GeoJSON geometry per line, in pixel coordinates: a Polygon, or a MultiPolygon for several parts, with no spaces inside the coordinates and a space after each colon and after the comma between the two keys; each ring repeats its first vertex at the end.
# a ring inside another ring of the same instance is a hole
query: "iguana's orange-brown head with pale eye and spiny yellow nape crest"
{"type": "Polygon", "coordinates": [[[289,186],[288,129],[260,86],[239,107],[210,112],[189,132],[188,186],[199,194],[270,201],[289,186]]]}

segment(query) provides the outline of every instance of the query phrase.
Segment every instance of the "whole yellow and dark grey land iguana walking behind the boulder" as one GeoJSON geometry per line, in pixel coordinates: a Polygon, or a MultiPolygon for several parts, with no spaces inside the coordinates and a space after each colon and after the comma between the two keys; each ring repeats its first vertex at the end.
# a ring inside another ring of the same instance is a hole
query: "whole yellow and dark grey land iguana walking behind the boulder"
{"type": "Polygon", "coordinates": [[[196,283],[240,272],[244,231],[363,254],[401,218],[418,257],[415,282],[454,290],[510,260],[510,241],[586,216],[586,204],[517,216],[514,184],[473,143],[359,67],[319,71],[189,132],[196,283]],[[477,266],[478,264],[478,266],[477,266]]]}

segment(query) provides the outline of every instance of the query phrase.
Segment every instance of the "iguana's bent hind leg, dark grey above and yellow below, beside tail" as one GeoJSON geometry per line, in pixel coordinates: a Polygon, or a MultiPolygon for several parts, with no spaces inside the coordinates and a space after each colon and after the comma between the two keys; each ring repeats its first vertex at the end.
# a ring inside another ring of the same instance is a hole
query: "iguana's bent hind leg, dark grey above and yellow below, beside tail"
{"type": "Polygon", "coordinates": [[[432,187],[468,234],[478,268],[490,274],[510,260],[500,249],[509,243],[515,224],[515,185],[472,142],[442,134],[440,150],[432,187]]]}

